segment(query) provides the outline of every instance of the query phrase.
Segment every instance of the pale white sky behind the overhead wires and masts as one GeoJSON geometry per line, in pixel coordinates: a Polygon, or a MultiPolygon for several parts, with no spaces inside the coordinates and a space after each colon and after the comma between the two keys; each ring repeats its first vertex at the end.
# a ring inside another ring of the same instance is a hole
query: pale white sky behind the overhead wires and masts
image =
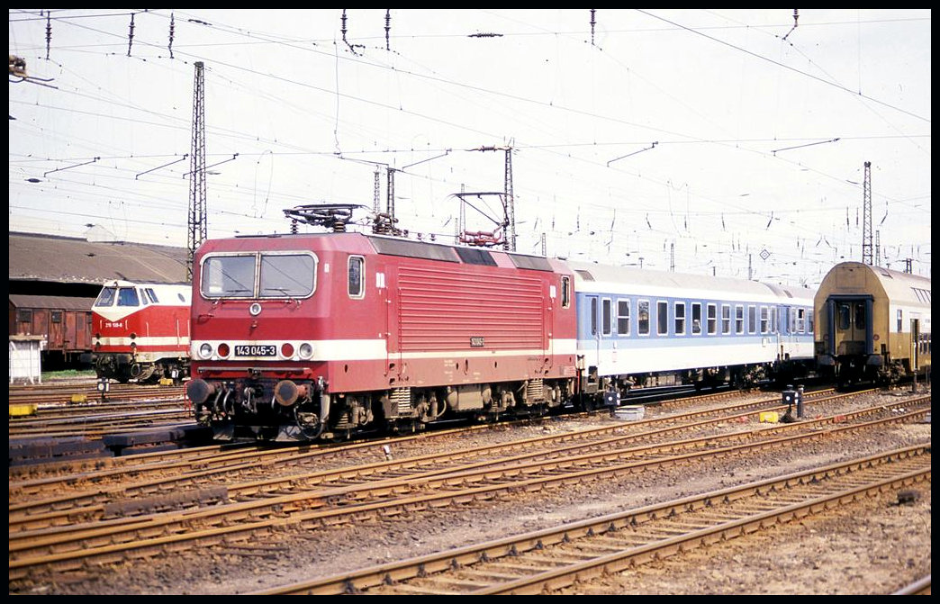
{"type": "Polygon", "coordinates": [[[202,62],[210,239],[368,231],[391,172],[412,238],[498,235],[509,183],[520,253],[815,287],[870,163],[875,263],[930,275],[931,16],[10,9],[9,229],[185,247],[202,62]]]}

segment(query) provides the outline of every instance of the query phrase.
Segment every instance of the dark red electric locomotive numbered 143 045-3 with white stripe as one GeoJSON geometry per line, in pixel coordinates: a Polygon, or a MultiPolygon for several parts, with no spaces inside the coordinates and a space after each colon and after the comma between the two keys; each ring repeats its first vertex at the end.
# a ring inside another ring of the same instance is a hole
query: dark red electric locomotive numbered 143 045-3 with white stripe
{"type": "Polygon", "coordinates": [[[187,394],[220,440],[545,412],[574,386],[572,283],[552,259],[378,235],[208,240],[187,394]]]}

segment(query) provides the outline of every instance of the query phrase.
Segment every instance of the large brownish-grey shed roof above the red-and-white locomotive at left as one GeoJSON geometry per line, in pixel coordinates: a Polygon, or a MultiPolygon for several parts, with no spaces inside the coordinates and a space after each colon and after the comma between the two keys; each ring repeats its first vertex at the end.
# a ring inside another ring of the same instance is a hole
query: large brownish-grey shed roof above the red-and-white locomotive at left
{"type": "Polygon", "coordinates": [[[10,281],[186,283],[186,248],[9,234],[10,281]]]}

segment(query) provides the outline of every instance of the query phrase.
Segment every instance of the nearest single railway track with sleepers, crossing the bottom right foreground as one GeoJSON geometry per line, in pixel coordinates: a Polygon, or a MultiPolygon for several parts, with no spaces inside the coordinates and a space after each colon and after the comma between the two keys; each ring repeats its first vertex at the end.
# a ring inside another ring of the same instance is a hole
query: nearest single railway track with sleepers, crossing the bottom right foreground
{"type": "MultiPolygon", "coordinates": [[[[916,446],[253,595],[534,595],[619,573],[885,491],[930,483],[916,446]]],[[[924,580],[899,593],[923,593],[924,580]]],[[[927,593],[930,577],[926,578],[927,593]]]]}

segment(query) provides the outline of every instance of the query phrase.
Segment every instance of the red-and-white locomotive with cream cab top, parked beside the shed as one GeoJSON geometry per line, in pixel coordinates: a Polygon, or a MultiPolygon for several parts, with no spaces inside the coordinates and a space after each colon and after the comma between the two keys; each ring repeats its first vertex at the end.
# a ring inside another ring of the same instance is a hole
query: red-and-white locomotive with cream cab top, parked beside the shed
{"type": "Polygon", "coordinates": [[[101,379],[181,379],[189,370],[189,284],[104,284],[91,307],[92,352],[101,379]]]}

